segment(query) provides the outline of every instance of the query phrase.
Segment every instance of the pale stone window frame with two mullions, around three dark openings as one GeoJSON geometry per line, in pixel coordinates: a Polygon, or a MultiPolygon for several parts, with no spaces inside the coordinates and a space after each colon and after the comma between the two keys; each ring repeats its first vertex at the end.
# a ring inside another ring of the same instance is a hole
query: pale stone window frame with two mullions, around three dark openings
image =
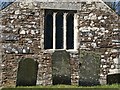
{"type": "MultiPolygon", "coordinates": [[[[54,52],[54,51],[58,51],[58,50],[66,50],[68,52],[76,52],[77,49],[78,49],[78,14],[77,14],[77,11],[76,10],[51,10],[51,9],[45,9],[45,12],[46,10],[48,11],[52,11],[53,13],[53,48],[52,49],[45,49],[45,43],[44,43],[44,50],[46,51],[50,51],[50,52],[54,52]],[[63,12],[63,49],[56,49],[56,38],[55,35],[56,35],[56,15],[57,15],[57,12],[63,12]],[[74,40],[73,40],[73,44],[74,44],[74,47],[73,49],[67,49],[67,36],[66,36],[66,28],[67,28],[67,25],[66,25],[66,22],[67,22],[67,15],[72,13],[73,14],[73,31],[74,31],[74,40]]],[[[46,14],[45,14],[46,15],[46,14]]],[[[45,17],[45,16],[44,16],[45,17]]],[[[45,19],[44,19],[45,20],[45,19]]],[[[45,27],[44,27],[45,28],[45,27]]],[[[44,37],[45,37],[45,34],[44,34],[44,37]]],[[[44,41],[45,41],[45,38],[44,38],[44,41]]]]}

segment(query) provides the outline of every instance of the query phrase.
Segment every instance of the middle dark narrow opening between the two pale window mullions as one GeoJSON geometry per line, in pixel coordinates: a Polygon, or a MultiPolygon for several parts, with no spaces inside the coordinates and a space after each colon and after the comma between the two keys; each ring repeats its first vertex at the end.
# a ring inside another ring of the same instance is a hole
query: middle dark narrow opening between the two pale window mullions
{"type": "Polygon", "coordinates": [[[56,49],[63,49],[63,14],[56,15],[56,49]]]}

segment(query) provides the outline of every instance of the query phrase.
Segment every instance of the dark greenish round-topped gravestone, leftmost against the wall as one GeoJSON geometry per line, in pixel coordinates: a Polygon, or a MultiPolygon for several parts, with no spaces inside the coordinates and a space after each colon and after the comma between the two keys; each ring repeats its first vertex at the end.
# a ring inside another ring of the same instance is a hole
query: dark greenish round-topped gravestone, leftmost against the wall
{"type": "Polygon", "coordinates": [[[38,63],[31,58],[21,59],[18,65],[16,86],[34,86],[37,80],[38,63]]]}

